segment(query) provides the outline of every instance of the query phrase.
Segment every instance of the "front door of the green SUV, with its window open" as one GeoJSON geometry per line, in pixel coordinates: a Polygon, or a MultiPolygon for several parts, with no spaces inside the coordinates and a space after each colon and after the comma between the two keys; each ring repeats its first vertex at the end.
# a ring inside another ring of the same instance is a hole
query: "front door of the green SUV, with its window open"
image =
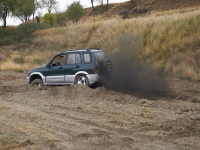
{"type": "Polygon", "coordinates": [[[56,56],[49,67],[46,69],[46,83],[49,85],[53,84],[64,84],[64,60],[66,55],[56,56]]]}

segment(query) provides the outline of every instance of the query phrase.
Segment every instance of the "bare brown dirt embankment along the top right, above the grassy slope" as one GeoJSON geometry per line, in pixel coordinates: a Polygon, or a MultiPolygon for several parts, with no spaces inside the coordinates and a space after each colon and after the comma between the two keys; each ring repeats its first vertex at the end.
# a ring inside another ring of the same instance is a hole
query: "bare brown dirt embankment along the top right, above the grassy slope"
{"type": "MultiPolygon", "coordinates": [[[[179,10],[179,12],[184,12],[185,9],[189,10],[199,6],[199,0],[134,0],[133,3],[127,1],[124,3],[109,4],[108,9],[106,4],[94,7],[95,11],[93,11],[92,8],[86,8],[86,16],[81,19],[81,22],[118,18],[123,9],[131,11],[134,9],[148,8],[151,12],[159,12],[160,14],[162,11],[170,10],[179,10]]],[[[133,16],[138,15],[140,16],[140,14],[133,16]]]]}

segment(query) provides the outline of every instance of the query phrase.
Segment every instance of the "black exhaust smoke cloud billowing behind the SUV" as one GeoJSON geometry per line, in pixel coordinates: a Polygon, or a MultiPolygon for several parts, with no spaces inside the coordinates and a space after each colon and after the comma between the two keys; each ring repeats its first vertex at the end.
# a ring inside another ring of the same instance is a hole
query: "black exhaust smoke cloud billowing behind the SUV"
{"type": "Polygon", "coordinates": [[[131,34],[119,39],[119,51],[110,55],[113,73],[105,83],[107,89],[148,99],[167,96],[167,74],[150,65],[147,67],[140,59],[143,43],[142,37],[131,34]]]}

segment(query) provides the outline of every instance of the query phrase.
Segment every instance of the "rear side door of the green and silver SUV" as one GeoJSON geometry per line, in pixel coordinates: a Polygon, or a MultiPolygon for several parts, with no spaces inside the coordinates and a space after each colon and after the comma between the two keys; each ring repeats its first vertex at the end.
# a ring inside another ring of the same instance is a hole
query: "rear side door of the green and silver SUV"
{"type": "Polygon", "coordinates": [[[78,52],[68,53],[66,55],[65,66],[64,66],[65,83],[73,84],[75,79],[75,74],[78,71],[81,71],[81,68],[82,68],[81,54],[78,52]]]}

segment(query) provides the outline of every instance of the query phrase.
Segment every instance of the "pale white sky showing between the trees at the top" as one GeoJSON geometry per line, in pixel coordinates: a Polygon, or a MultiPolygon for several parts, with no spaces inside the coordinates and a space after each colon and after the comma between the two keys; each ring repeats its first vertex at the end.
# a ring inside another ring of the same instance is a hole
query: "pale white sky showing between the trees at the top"
{"type": "MultiPolygon", "coordinates": [[[[86,7],[91,7],[91,1],[90,0],[57,0],[58,2],[58,8],[60,11],[66,10],[67,6],[69,6],[71,3],[74,1],[80,1],[81,5],[86,8],[86,7]]],[[[109,0],[109,3],[120,3],[120,2],[125,2],[129,0],[109,0]]],[[[104,4],[106,4],[106,0],[104,0],[104,4]]],[[[94,3],[94,5],[98,5],[97,2],[94,3]]],[[[40,10],[44,15],[47,11],[45,10],[40,10]]],[[[37,13],[36,13],[37,15],[37,13]]],[[[7,25],[18,25],[21,24],[22,22],[17,19],[17,18],[7,18],[7,25]]],[[[0,25],[3,25],[3,22],[0,21],[0,25]]]]}

